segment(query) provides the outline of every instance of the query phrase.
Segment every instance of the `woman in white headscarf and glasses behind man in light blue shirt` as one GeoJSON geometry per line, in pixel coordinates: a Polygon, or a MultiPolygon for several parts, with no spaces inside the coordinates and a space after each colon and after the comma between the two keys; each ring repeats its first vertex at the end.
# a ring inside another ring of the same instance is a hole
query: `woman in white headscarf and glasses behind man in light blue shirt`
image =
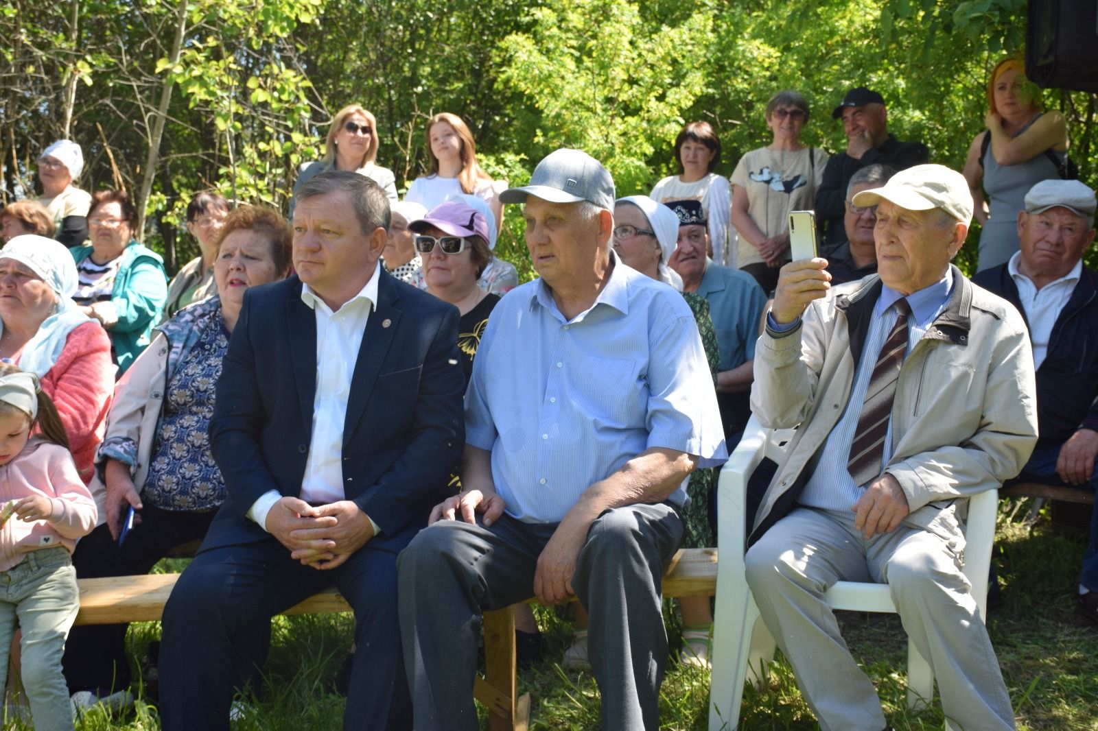
{"type": "MultiPolygon", "coordinates": [[[[682,280],[668,267],[668,258],[679,240],[679,216],[666,205],[657,203],[648,195],[628,195],[614,203],[614,251],[621,262],[642,274],[670,284],[682,292],[682,280]]],[[[699,294],[682,292],[694,312],[697,329],[709,361],[714,387],[717,385],[717,369],[720,353],[717,349],[717,334],[709,316],[709,303],[699,294]]],[[[691,473],[686,493],[690,501],[683,507],[683,524],[686,527],[684,548],[712,548],[717,544],[714,521],[709,506],[713,491],[717,485],[717,470],[694,470],[691,473]]],[[[680,600],[683,615],[683,649],[680,660],[684,664],[708,667],[709,636],[713,614],[708,597],[686,597],[680,600]]],[[[576,611],[575,639],[564,651],[565,667],[587,665],[586,616],[580,607],[576,611]]]]}

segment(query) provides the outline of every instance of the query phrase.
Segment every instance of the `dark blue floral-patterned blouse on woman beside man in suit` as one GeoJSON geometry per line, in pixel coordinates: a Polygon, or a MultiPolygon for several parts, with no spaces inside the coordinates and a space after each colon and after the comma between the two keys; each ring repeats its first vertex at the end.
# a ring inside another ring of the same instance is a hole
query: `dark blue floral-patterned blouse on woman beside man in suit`
{"type": "Polygon", "coordinates": [[[206,429],[227,349],[228,331],[222,318],[209,318],[168,379],[142,492],[159,508],[212,510],[225,499],[225,482],[210,452],[206,429]]]}

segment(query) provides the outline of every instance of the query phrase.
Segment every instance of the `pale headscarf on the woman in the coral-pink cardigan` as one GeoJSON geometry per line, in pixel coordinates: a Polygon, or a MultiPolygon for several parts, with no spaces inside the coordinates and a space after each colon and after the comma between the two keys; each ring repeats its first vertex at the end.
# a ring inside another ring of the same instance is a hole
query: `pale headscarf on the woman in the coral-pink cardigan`
{"type": "MultiPolygon", "coordinates": [[[[42,278],[57,295],[53,313],[38,326],[19,358],[19,367],[38,378],[54,367],[65,349],[68,334],[85,323],[93,322],[72,302],[79,283],[76,260],[63,245],[45,236],[16,236],[0,249],[0,259],[14,259],[42,278]]],[[[0,334],[3,322],[0,320],[0,334]]]]}

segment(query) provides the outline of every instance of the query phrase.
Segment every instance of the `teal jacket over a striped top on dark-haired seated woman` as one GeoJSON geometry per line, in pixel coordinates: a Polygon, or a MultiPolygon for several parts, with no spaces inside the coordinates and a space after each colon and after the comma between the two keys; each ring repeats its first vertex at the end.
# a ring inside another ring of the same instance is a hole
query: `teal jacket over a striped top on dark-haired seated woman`
{"type": "MultiPolygon", "coordinates": [[[[91,247],[78,246],[70,251],[79,266],[91,255],[91,247]]],[[[119,376],[150,342],[153,327],[160,322],[167,299],[168,278],[164,271],[164,259],[153,249],[131,240],[122,252],[122,263],[111,293],[117,322],[107,330],[111,336],[114,361],[119,364],[119,376]]]]}

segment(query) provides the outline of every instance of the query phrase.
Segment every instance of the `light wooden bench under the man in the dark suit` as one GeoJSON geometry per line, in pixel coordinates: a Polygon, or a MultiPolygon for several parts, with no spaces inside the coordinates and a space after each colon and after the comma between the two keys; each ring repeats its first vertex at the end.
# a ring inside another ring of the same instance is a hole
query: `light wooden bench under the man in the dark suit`
{"type": "MultiPolygon", "coordinates": [[[[77,625],[159,621],[179,574],[81,578],[77,625]]],[[[712,596],[717,587],[717,550],[683,549],[663,575],[663,596],[712,596]]],[[[350,611],[335,588],[321,592],[285,610],[285,615],[350,611]]],[[[516,696],[515,618],[509,608],[484,612],[484,677],[473,695],[489,709],[492,731],[526,731],[530,696],[516,696]]]]}

